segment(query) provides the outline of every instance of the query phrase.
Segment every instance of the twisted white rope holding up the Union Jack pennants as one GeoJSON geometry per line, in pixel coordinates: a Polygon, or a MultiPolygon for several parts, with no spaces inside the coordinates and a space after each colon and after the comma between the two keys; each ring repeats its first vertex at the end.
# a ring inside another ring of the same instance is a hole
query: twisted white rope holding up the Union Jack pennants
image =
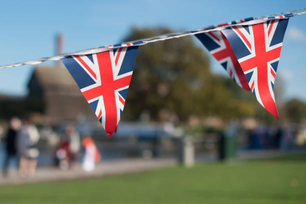
{"type": "MultiPolygon", "coordinates": [[[[305,9],[306,8],[295,9],[295,10],[291,10],[291,12],[298,11],[298,10],[305,10],[305,9]]],[[[288,12],[290,13],[290,11],[286,11],[286,12],[282,12],[282,13],[279,13],[279,14],[284,14],[284,13],[288,13],[288,12]]],[[[305,13],[306,13],[306,11],[305,12],[299,12],[299,13],[293,13],[293,15],[301,15],[301,14],[305,14],[305,13]]],[[[278,14],[278,13],[276,13],[276,14],[278,14]]],[[[260,18],[262,18],[262,17],[260,17],[260,18]]],[[[236,23],[235,25],[251,25],[251,24],[257,24],[257,23],[265,22],[267,20],[270,20],[270,19],[255,18],[254,20],[236,23]]],[[[226,27],[230,27],[230,26],[232,26],[232,25],[216,26],[216,27],[213,27],[211,29],[205,29],[205,30],[199,30],[199,31],[193,31],[192,30],[192,31],[184,31],[184,32],[163,34],[163,35],[159,35],[159,36],[155,36],[155,37],[150,37],[150,38],[146,38],[146,39],[142,39],[142,40],[140,39],[140,40],[133,41],[133,42],[142,41],[142,43],[139,43],[139,44],[132,44],[132,45],[122,44],[122,45],[117,46],[117,47],[110,46],[110,47],[98,47],[98,48],[85,49],[85,50],[81,50],[81,51],[78,51],[78,52],[59,54],[59,55],[52,56],[52,57],[43,57],[43,58],[39,58],[39,59],[34,59],[34,60],[29,60],[29,61],[24,61],[24,62],[18,62],[18,63],[14,63],[14,64],[9,64],[9,65],[3,65],[3,66],[0,66],[0,69],[15,67],[15,66],[21,66],[21,65],[24,65],[24,64],[35,65],[35,64],[39,64],[39,63],[42,63],[44,61],[47,61],[47,60],[59,60],[61,58],[64,58],[66,56],[71,56],[71,55],[93,54],[93,53],[98,53],[98,52],[103,52],[103,51],[119,48],[119,47],[122,47],[122,46],[138,46],[138,45],[143,45],[143,44],[156,42],[156,41],[163,41],[163,40],[167,40],[167,39],[179,38],[179,37],[184,37],[184,36],[188,36],[188,35],[195,35],[195,34],[199,34],[199,33],[203,33],[203,32],[210,32],[210,31],[214,31],[214,30],[222,30],[222,29],[224,29],[226,27]]]]}

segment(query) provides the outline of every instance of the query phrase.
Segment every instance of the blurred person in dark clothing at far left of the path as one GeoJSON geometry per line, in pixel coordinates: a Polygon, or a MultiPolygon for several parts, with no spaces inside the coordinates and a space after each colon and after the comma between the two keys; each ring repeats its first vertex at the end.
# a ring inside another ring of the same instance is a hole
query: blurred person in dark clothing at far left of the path
{"type": "Polygon", "coordinates": [[[12,117],[9,122],[9,128],[6,136],[4,137],[5,141],[5,157],[3,160],[3,171],[2,174],[4,177],[7,176],[7,170],[9,166],[9,161],[14,159],[16,164],[18,163],[17,159],[17,150],[16,150],[16,138],[17,132],[21,127],[21,121],[17,117],[12,117]]]}

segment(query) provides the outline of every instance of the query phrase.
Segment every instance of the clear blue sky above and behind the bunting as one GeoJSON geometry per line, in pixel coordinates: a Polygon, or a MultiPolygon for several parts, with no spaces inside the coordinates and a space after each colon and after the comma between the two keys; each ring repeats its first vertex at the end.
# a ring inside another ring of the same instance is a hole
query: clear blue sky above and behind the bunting
{"type": "MultiPolygon", "coordinates": [[[[64,35],[64,52],[73,52],[118,43],[131,26],[179,31],[301,7],[306,7],[303,0],[2,1],[0,65],[54,55],[56,33],[64,35]]],[[[284,37],[276,83],[282,78],[286,99],[306,100],[305,21],[306,14],[291,17],[284,37]]],[[[211,62],[212,71],[225,74],[211,62]]],[[[0,93],[26,94],[31,72],[28,65],[0,70],[0,93]]]]}

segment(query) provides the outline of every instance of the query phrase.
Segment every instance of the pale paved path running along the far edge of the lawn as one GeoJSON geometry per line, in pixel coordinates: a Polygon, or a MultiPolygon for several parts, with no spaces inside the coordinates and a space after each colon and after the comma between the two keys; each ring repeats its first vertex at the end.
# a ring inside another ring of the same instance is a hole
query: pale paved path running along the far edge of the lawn
{"type": "MultiPolygon", "coordinates": [[[[305,151],[280,151],[280,150],[241,150],[237,153],[237,159],[266,158],[276,157],[285,154],[301,153],[305,151]]],[[[209,153],[198,155],[196,161],[215,161],[216,154],[209,153]]],[[[85,172],[79,165],[69,169],[60,170],[58,168],[40,167],[32,178],[21,179],[17,176],[16,170],[10,172],[9,176],[4,178],[0,176],[0,185],[22,184],[40,181],[59,181],[72,180],[76,178],[100,177],[107,175],[124,174],[130,172],[140,172],[150,169],[161,168],[165,166],[174,166],[177,164],[176,158],[158,158],[158,159],[119,159],[113,161],[104,161],[96,165],[91,172],[85,172]]]]}

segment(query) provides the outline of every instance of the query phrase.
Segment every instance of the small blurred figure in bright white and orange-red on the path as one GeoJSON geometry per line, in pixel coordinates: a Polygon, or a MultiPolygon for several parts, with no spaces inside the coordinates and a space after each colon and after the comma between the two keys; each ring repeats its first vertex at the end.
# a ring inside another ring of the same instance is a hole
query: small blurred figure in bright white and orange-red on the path
{"type": "Polygon", "coordinates": [[[82,144],[85,151],[82,168],[85,171],[92,171],[95,167],[95,163],[101,159],[101,154],[96,148],[96,145],[91,137],[85,136],[82,139],[82,144]]]}

